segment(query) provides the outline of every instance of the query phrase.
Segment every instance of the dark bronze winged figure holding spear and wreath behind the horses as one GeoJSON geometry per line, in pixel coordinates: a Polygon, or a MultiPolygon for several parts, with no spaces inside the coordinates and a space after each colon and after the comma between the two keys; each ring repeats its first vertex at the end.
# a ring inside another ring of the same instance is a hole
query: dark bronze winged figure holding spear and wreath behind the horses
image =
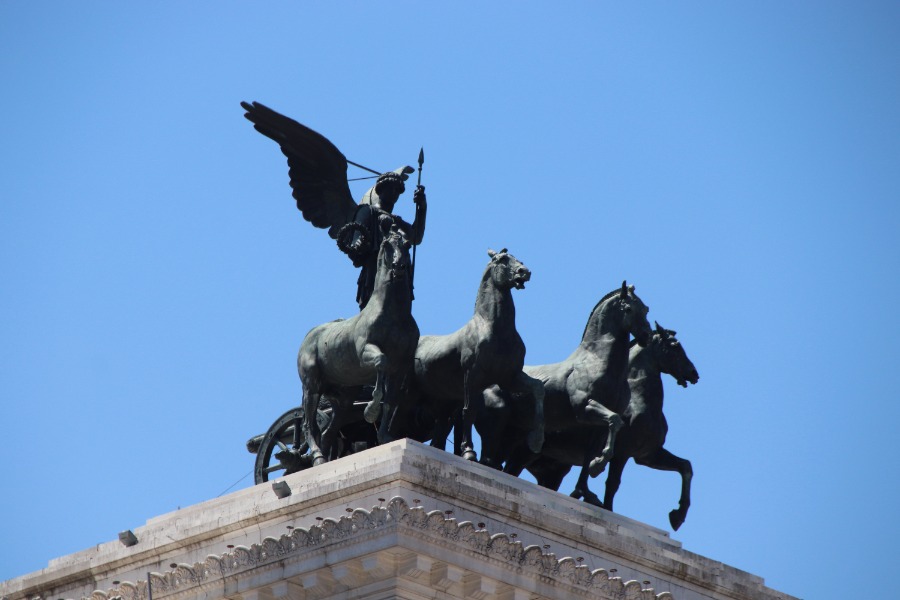
{"type": "Polygon", "coordinates": [[[253,127],[274,140],[287,157],[292,195],[303,218],[327,229],[354,266],[361,268],[356,301],[362,310],[375,285],[383,232],[390,231],[386,221],[396,225],[413,245],[420,244],[425,235],[424,187],[417,186],[413,194],[416,218],[412,224],[393,214],[394,204],[406,189],[404,182],[415,169],[404,166],[381,174],[357,203],[347,183],[347,158],[325,136],[259,102],[241,102],[241,106],[253,127]]]}

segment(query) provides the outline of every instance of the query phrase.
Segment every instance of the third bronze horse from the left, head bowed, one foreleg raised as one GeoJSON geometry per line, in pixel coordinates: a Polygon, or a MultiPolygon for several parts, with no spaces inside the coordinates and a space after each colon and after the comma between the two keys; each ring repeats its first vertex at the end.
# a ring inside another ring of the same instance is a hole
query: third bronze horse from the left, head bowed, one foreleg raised
{"type": "MultiPolygon", "coordinates": [[[[646,344],[652,334],[647,322],[649,308],[634,293],[634,286],[622,282],[594,306],[581,336],[581,343],[564,361],[541,366],[526,366],[530,377],[544,384],[544,427],[548,435],[584,435],[579,460],[581,474],[573,496],[600,505],[600,499],[588,489],[588,475],[596,477],[613,454],[616,433],[623,425],[619,416],[627,397],[623,394],[628,373],[629,340],[646,344]],[[601,434],[607,432],[606,445],[598,452],[601,434]]],[[[515,425],[523,411],[522,397],[496,387],[484,394],[486,410],[479,427],[484,454],[504,462],[503,470],[519,475],[539,458],[516,442],[515,425]],[[508,425],[514,425],[509,427],[508,425]]]]}

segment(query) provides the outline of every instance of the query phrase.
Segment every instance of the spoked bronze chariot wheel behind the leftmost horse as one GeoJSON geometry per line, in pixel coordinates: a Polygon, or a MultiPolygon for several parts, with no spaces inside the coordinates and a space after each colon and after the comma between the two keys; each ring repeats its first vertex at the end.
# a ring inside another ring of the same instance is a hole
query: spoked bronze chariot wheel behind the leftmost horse
{"type": "MultiPolygon", "coordinates": [[[[309,444],[303,433],[304,420],[303,408],[299,407],[292,408],[272,423],[256,451],[253,468],[255,483],[265,483],[270,478],[290,475],[312,466],[309,444]]],[[[331,422],[331,410],[319,410],[316,420],[320,431],[324,431],[331,422]]]]}

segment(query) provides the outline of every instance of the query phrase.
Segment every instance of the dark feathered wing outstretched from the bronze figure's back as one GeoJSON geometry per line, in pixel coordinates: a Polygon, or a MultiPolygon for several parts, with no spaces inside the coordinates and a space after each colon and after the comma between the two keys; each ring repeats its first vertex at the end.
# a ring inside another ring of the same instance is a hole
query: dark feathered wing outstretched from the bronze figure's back
{"type": "Polygon", "coordinates": [[[325,137],[259,102],[241,102],[244,116],[275,140],[288,159],[292,195],[303,218],[336,238],[357,204],[347,184],[347,159],[325,137]]]}

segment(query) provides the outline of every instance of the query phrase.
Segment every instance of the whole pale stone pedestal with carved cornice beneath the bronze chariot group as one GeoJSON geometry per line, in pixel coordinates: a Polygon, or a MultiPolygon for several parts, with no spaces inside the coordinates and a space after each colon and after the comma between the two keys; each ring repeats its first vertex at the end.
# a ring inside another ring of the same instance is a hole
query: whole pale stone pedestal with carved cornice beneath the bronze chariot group
{"type": "Polygon", "coordinates": [[[788,600],[648,527],[400,440],[156,517],[3,600],[788,600]],[[148,588],[149,581],[149,588],[148,588]]]}

